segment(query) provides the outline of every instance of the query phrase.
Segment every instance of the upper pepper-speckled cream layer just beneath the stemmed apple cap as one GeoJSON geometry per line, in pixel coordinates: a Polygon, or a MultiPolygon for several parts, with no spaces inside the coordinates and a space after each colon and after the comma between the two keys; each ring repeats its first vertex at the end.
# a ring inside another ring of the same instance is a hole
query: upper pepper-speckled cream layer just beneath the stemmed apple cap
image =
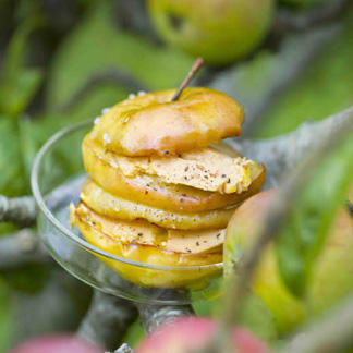
{"type": "Polygon", "coordinates": [[[127,178],[143,173],[159,176],[168,184],[181,184],[221,194],[241,194],[252,183],[252,171],[258,169],[256,162],[245,157],[230,157],[214,148],[194,149],[168,157],[125,157],[101,148],[90,137],[92,134],[85,137],[83,146],[92,144],[97,155],[104,156],[104,159],[127,178]]]}

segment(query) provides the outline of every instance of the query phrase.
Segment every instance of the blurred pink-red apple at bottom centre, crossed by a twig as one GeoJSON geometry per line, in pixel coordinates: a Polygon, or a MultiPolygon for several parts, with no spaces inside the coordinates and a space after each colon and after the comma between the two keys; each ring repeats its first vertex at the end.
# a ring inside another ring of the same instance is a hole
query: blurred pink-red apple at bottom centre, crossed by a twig
{"type": "MultiPolygon", "coordinates": [[[[185,353],[202,349],[217,332],[217,322],[206,317],[180,317],[149,334],[135,353],[185,353]]],[[[232,331],[235,353],[265,353],[266,345],[245,329],[232,331]]]]}

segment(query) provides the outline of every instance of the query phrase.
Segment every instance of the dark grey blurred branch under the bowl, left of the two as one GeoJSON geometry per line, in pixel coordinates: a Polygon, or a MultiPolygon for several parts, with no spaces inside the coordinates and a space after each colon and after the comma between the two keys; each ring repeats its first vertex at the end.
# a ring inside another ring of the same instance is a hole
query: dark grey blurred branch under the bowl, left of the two
{"type": "Polygon", "coordinates": [[[137,311],[131,302],[95,291],[77,334],[105,349],[114,350],[136,317],[137,311]]]}

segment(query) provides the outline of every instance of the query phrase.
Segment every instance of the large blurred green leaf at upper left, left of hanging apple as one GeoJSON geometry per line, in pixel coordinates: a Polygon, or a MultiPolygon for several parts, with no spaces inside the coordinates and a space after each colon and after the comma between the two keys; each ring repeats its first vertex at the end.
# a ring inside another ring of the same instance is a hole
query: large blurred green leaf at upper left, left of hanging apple
{"type": "MultiPolygon", "coordinates": [[[[175,87],[183,80],[191,57],[119,28],[112,21],[111,9],[100,1],[61,44],[50,73],[50,108],[69,101],[89,77],[107,69],[131,75],[150,89],[175,87]]],[[[121,98],[117,95],[115,101],[121,98]]]]}

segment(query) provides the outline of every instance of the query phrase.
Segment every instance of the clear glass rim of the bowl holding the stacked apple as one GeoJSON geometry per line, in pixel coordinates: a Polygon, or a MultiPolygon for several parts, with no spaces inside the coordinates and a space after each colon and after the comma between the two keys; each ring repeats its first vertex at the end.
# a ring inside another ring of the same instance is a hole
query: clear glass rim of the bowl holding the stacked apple
{"type": "Polygon", "coordinates": [[[222,269],[223,263],[217,263],[217,264],[210,264],[210,265],[194,265],[194,266],[162,266],[162,265],[151,265],[151,264],[145,264],[139,263],[135,260],[131,260],[124,257],[120,257],[113,254],[110,254],[108,252],[105,252],[88,242],[86,242],[84,239],[77,236],[74,232],[72,232],[70,229],[68,229],[65,226],[63,226],[59,219],[51,212],[49,207],[47,206],[45,196],[40,192],[39,182],[38,182],[38,173],[40,170],[41,162],[46,155],[53,148],[53,146],[61,141],[62,138],[80,131],[83,127],[88,126],[93,123],[93,120],[85,120],[80,123],[63,127],[59,130],[57,133],[54,133],[39,149],[37,153],[32,172],[31,172],[31,187],[32,193],[34,195],[34,198],[36,200],[37,206],[39,207],[40,211],[45,215],[45,217],[49,220],[49,222],[57,228],[61,234],[69,238],[71,241],[76,243],[78,246],[81,246],[83,249],[102,256],[108,259],[112,259],[119,263],[124,263],[132,266],[137,266],[146,269],[156,269],[156,270],[173,270],[173,271],[188,271],[188,270],[207,270],[207,269],[222,269]]]}

